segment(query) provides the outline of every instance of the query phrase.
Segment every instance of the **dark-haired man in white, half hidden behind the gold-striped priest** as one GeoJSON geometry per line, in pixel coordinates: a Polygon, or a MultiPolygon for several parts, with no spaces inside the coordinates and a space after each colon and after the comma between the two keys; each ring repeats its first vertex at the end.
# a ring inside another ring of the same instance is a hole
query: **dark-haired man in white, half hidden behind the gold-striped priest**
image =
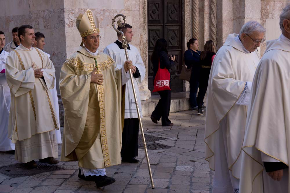
{"type": "MultiPolygon", "coordinates": [[[[41,49],[43,52],[44,46],[45,46],[45,36],[43,33],[41,32],[36,32],[35,34],[35,41],[32,47],[37,47],[38,49],[41,49]]],[[[44,52],[48,58],[50,58],[50,54],[44,52]]],[[[55,117],[56,117],[56,121],[59,124],[59,106],[58,106],[58,97],[57,97],[57,91],[56,91],[56,81],[55,82],[55,86],[52,89],[49,89],[51,96],[52,96],[52,103],[53,106],[55,108],[55,117]]],[[[57,143],[61,144],[61,134],[60,134],[60,129],[55,130],[55,135],[56,135],[56,139],[57,139],[57,143]]]]}

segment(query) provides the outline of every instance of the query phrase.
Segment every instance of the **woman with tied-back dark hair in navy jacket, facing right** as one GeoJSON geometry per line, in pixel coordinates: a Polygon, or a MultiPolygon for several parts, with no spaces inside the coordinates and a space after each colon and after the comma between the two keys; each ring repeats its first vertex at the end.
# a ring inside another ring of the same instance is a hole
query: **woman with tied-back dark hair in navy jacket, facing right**
{"type": "MultiPolygon", "coordinates": [[[[198,79],[200,72],[200,51],[198,51],[198,41],[195,38],[191,38],[187,42],[188,49],[184,52],[184,63],[187,68],[191,68],[191,77],[189,81],[190,93],[189,93],[189,102],[191,109],[196,109],[197,107],[197,88],[198,88],[198,79]]],[[[196,109],[197,110],[197,109],[196,109]]]]}

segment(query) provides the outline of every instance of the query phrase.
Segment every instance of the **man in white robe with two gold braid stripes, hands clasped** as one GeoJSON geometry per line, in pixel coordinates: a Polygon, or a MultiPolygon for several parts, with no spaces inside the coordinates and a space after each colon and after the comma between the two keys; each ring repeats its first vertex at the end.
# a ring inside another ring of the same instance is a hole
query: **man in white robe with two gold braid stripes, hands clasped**
{"type": "Polygon", "coordinates": [[[59,161],[55,129],[59,129],[49,89],[54,87],[55,69],[48,56],[32,47],[34,29],[18,28],[21,44],[6,60],[6,79],[11,92],[8,136],[15,143],[15,160],[27,167],[59,161]]]}

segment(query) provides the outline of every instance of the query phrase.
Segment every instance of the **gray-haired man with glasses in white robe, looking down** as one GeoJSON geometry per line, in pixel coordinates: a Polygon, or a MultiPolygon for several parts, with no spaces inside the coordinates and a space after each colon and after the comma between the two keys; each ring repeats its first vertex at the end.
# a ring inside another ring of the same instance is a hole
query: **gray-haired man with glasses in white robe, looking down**
{"type": "Polygon", "coordinates": [[[206,160],[215,170],[213,193],[239,192],[247,106],[265,31],[256,21],[245,23],[240,34],[228,36],[213,60],[204,139],[206,160]]]}

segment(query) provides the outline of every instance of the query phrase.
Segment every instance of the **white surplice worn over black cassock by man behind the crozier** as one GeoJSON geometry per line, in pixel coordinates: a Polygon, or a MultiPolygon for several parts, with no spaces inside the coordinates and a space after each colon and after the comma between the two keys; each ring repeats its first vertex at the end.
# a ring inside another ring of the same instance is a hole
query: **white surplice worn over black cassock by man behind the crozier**
{"type": "MultiPolygon", "coordinates": [[[[138,84],[140,84],[142,80],[144,79],[146,69],[145,69],[143,60],[141,58],[141,55],[138,49],[131,44],[128,44],[128,45],[130,46],[130,49],[128,49],[129,60],[132,60],[133,65],[138,68],[139,73],[140,73],[139,78],[133,77],[133,81],[134,81],[136,96],[138,99],[139,111],[142,117],[142,107],[141,107],[138,84]]],[[[121,66],[124,65],[124,62],[126,61],[125,51],[124,49],[120,49],[116,43],[111,43],[110,45],[108,45],[104,49],[103,52],[105,54],[108,54],[111,58],[113,58],[113,60],[116,62],[117,65],[121,65],[121,66]]],[[[137,114],[137,109],[135,105],[135,98],[133,95],[132,84],[131,84],[131,81],[129,80],[126,83],[126,91],[125,91],[125,119],[132,119],[132,118],[138,118],[138,114],[137,114]]]]}

